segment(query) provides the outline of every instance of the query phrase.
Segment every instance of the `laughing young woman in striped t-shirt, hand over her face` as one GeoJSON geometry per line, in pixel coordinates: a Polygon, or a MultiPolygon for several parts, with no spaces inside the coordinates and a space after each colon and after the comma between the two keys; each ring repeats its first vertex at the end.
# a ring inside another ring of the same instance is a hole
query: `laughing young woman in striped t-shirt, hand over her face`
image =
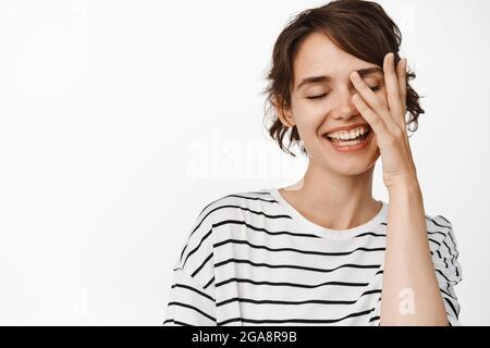
{"type": "Polygon", "coordinates": [[[289,23],[268,75],[268,130],[293,156],[299,144],[306,174],[203,209],[164,325],[461,325],[456,239],[424,210],[406,135],[424,110],[400,45],[369,1],[332,1],[289,23]],[[379,157],[389,204],[371,196],[379,157]]]}

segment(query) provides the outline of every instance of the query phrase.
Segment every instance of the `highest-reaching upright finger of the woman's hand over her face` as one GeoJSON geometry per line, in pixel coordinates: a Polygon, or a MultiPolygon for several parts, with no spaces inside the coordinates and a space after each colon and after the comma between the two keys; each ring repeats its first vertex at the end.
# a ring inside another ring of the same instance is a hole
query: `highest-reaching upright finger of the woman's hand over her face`
{"type": "Polygon", "coordinates": [[[402,101],[400,98],[400,85],[396,76],[396,70],[394,65],[394,54],[392,52],[384,55],[383,61],[383,71],[384,71],[384,85],[387,86],[387,97],[388,97],[388,105],[390,109],[390,115],[394,120],[394,122],[404,129],[403,125],[403,110],[402,110],[402,101]]]}

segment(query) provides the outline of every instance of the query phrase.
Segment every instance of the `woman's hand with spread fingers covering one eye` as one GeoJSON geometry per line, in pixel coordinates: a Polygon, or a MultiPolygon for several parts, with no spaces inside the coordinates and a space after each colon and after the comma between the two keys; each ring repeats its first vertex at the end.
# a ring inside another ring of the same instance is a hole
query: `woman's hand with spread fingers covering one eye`
{"type": "Polygon", "coordinates": [[[380,98],[360,78],[351,74],[358,91],[353,102],[375,132],[380,149],[383,182],[387,188],[417,183],[416,167],[406,135],[406,59],[394,66],[394,54],[388,53],[383,61],[387,99],[380,98]],[[388,103],[387,103],[388,100],[388,103]]]}

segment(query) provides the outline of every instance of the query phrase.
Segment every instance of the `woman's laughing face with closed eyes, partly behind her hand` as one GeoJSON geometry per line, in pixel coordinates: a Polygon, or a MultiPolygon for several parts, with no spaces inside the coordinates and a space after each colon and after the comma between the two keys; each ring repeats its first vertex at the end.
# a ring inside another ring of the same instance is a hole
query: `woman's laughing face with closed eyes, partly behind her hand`
{"type": "Polygon", "coordinates": [[[350,75],[372,67],[365,75],[359,73],[387,102],[381,66],[341,50],[323,34],[311,34],[303,41],[294,61],[292,108],[286,115],[289,123],[296,124],[310,161],[341,175],[362,174],[375,165],[380,152],[372,130],[362,149],[350,152],[339,151],[323,137],[339,126],[367,125],[352,101],[356,89],[350,75]],[[305,82],[313,76],[328,77],[305,82]]]}

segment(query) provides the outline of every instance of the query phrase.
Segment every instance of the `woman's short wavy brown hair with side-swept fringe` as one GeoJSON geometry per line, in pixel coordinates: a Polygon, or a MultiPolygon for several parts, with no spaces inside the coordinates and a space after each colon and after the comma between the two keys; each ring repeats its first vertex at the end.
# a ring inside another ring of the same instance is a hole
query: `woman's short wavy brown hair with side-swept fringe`
{"type": "MultiPolygon", "coordinates": [[[[299,141],[296,126],[291,128],[289,145],[283,138],[290,130],[282,124],[275,113],[275,108],[291,107],[291,90],[293,84],[293,62],[299,45],[311,33],[326,34],[336,46],[345,52],[364,61],[382,66],[384,55],[393,52],[395,64],[400,61],[399,49],[402,34],[396,24],[388,16],[380,4],[363,0],[334,0],[326,5],[309,9],[295,15],[279,35],[272,53],[272,66],[267,74],[269,85],[262,91],[266,95],[265,114],[273,110],[271,125],[266,126],[272,139],[279,144],[284,152],[295,157],[290,151],[293,141],[299,141]],[[277,105],[275,101],[280,104],[277,105]]],[[[395,65],[396,66],[396,65],[395,65]]],[[[418,128],[418,116],[424,113],[420,108],[418,94],[411,87],[408,80],[415,78],[415,73],[407,70],[406,111],[409,120],[407,125],[418,128]]],[[[406,115],[405,115],[406,116],[406,115]]],[[[303,153],[306,149],[301,145],[303,153]]]]}

